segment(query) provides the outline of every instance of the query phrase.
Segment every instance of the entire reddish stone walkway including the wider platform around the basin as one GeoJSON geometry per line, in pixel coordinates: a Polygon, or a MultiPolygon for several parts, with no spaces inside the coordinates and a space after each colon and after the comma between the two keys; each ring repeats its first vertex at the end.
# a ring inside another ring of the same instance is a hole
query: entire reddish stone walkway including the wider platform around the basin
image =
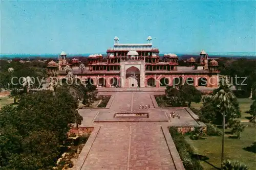
{"type": "Polygon", "coordinates": [[[106,108],[85,108],[81,127],[94,127],[75,170],[184,169],[167,127],[201,126],[186,108],[158,108],[159,92],[99,92],[111,95],[106,108]],[[150,105],[140,109],[139,105],[150,105]],[[170,112],[180,114],[169,118],[170,112]],[[116,113],[145,113],[148,117],[115,117],[116,113]]]}

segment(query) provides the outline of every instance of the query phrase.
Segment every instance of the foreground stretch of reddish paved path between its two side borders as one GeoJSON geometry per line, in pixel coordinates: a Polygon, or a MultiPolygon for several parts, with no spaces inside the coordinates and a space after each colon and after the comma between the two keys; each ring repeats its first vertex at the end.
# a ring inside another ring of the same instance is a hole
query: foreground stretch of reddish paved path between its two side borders
{"type": "Polygon", "coordinates": [[[175,169],[160,126],[146,123],[101,127],[83,170],[175,169]]]}

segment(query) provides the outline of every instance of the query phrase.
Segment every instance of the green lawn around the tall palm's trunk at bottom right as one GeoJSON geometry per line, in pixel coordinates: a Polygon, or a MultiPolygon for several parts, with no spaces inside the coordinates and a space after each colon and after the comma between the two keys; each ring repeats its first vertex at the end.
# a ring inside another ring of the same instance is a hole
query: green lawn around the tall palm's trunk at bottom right
{"type": "MultiPolygon", "coordinates": [[[[256,126],[252,123],[245,123],[245,125],[247,127],[242,132],[241,139],[232,139],[229,138],[229,134],[225,134],[224,160],[242,161],[247,163],[250,169],[255,169],[255,153],[248,152],[243,148],[249,147],[255,140],[256,126]]],[[[211,170],[216,169],[214,166],[220,167],[222,136],[209,136],[199,140],[191,140],[186,137],[186,140],[194,149],[195,154],[206,156],[205,161],[201,160],[204,169],[211,170]]]]}

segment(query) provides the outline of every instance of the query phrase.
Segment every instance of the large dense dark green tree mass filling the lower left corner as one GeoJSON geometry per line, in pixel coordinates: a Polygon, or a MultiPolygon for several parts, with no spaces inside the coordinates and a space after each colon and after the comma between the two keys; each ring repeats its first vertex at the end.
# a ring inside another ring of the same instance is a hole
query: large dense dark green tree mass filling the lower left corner
{"type": "Polygon", "coordinates": [[[0,110],[1,169],[53,169],[70,124],[80,125],[78,103],[63,87],[30,92],[0,110]],[[54,103],[54,105],[53,105],[54,103]]]}

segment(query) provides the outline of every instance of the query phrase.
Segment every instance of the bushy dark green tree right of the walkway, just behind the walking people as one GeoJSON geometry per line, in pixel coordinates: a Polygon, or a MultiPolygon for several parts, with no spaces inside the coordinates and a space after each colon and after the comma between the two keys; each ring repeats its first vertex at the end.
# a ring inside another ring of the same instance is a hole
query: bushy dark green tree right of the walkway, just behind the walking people
{"type": "Polygon", "coordinates": [[[165,96],[168,104],[174,107],[190,107],[192,102],[199,103],[202,99],[201,91],[196,89],[195,86],[187,84],[176,87],[167,86],[165,96]]]}

